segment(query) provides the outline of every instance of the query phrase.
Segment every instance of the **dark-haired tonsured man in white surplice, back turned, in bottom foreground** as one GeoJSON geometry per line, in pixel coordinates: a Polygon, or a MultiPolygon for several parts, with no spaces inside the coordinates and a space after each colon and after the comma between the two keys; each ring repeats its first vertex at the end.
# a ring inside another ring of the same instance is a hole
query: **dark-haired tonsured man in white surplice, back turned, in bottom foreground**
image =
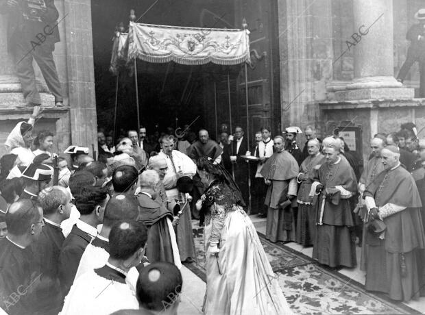
{"type": "Polygon", "coordinates": [[[146,239],[145,227],[136,221],[115,223],[109,235],[108,262],[75,280],[60,314],[108,315],[122,309],[137,310],[136,292],[127,273],[141,263],[146,239]]]}

